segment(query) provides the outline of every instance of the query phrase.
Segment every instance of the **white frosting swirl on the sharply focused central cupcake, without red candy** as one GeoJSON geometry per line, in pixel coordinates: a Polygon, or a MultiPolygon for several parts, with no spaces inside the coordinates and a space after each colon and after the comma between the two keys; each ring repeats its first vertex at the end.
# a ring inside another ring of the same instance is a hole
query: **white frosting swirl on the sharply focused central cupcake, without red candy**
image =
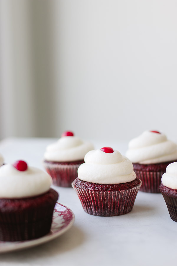
{"type": "Polygon", "coordinates": [[[99,184],[120,184],[134,180],[136,174],[128,158],[117,150],[105,153],[101,150],[91,150],[84,158],[85,163],[78,168],[78,178],[99,184]]]}

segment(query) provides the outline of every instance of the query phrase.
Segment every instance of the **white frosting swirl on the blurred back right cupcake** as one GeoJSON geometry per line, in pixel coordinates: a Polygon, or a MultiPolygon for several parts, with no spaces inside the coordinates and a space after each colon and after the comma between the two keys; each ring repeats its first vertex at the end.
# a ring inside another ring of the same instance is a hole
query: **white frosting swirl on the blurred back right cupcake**
{"type": "Polygon", "coordinates": [[[132,163],[150,164],[177,160],[176,143],[167,140],[162,133],[145,131],[132,139],[126,156],[132,163]]]}

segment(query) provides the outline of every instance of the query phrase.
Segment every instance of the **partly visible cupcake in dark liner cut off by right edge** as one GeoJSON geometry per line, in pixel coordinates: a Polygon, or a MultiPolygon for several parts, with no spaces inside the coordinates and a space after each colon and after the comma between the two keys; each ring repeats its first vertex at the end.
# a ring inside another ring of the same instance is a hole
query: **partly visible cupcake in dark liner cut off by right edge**
{"type": "Polygon", "coordinates": [[[177,222],[177,162],[167,166],[166,173],[162,176],[160,192],[164,197],[171,219],[177,222]]]}

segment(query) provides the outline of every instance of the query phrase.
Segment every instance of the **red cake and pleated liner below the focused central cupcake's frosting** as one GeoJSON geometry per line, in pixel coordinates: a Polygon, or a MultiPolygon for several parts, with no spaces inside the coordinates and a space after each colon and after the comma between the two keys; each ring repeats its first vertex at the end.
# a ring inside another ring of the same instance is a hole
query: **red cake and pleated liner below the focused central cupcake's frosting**
{"type": "Polygon", "coordinates": [[[132,210],[141,180],[136,178],[122,184],[96,184],[76,178],[72,186],[86,213],[117,216],[132,210]]]}

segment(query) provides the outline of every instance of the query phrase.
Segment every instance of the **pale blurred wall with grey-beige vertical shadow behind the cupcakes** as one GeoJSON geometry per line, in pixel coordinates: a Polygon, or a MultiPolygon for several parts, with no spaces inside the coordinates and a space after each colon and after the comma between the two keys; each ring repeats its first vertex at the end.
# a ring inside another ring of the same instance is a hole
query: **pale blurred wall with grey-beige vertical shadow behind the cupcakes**
{"type": "Polygon", "coordinates": [[[177,141],[175,0],[0,0],[0,139],[177,141]]]}

